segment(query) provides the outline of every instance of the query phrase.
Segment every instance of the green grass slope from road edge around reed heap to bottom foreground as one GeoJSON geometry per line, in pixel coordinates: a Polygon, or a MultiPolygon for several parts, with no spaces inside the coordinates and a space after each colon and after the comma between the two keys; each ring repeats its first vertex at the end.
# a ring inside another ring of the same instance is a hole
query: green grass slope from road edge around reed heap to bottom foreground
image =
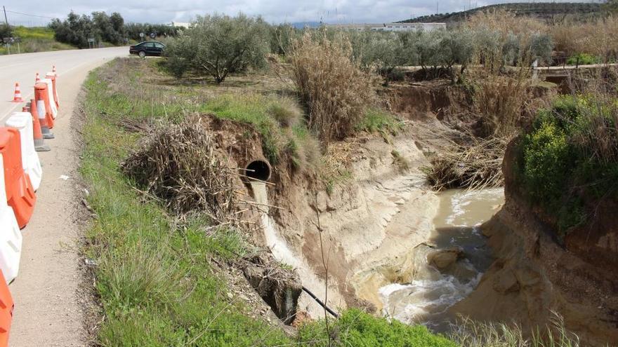
{"type": "Polygon", "coordinates": [[[246,252],[240,233],[215,226],[206,234],[203,228],[210,222],[200,215],[180,222],[155,198],[135,188],[121,173],[121,162],[140,138],[136,124],[178,121],[202,107],[248,123],[259,123],[268,115],[257,106],[255,118],[239,116],[239,110],[249,107],[242,99],[242,107],[231,102],[218,109],[216,101],[191,106],[188,100],[196,95],[183,87],[144,86],[144,69],[143,60],[117,59],[96,69],[85,83],[80,171],[96,217],[86,231],[84,255],[96,264],[92,271],[101,315],[94,336],[98,345],[455,346],[425,327],[357,310],[331,322],[329,331],[336,329],[331,336],[323,320],[289,337],[249,318],[246,304],[230,299],[228,283],[213,266],[230,264],[246,252]],[[180,97],[162,97],[177,91],[182,93],[174,95],[180,97]]]}

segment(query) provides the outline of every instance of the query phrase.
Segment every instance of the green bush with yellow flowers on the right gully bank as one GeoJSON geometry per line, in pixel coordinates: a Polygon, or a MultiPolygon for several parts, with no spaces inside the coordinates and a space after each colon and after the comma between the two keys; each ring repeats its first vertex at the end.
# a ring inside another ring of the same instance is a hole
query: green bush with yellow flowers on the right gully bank
{"type": "Polygon", "coordinates": [[[603,95],[560,97],[539,111],[520,144],[527,195],[560,236],[585,220],[583,200],[618,199],[618,104],[603,95]]]}

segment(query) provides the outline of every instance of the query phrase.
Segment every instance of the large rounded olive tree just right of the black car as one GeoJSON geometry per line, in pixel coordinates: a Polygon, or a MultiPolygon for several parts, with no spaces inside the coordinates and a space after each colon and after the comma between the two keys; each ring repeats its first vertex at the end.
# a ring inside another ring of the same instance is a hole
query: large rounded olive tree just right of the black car
{"type": "Polygon", "coordinates": [[[244,14],[199,17],[166,47],[166,64],[176,76],[188,70],[222,83],[228,74],[263,67],[269,53],[269,28],[261,18],[244,14]]]}

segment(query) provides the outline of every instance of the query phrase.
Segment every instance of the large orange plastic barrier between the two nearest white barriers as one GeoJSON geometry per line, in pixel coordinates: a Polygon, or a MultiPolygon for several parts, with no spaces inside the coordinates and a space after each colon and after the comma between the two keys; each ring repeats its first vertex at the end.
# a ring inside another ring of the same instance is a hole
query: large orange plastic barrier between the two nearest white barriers
{"type": "Polygon", "coordinates": [[[22,166],[20,132],[15,128],[0,128],[0,154],[4,163],[6,202],[13,207],[17,224],[22,229],[34,211],[37,196],[30,177],[22,166]]]}

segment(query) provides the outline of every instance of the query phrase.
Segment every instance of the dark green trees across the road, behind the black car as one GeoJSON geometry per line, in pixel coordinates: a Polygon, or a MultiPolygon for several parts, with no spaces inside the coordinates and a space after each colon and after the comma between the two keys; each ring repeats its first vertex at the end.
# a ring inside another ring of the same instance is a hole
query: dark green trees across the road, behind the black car
{"type": "Polygon", "coordinates": [[[178,28],[171,25],[125,23],[122,15],[117,12],[111,15],[105,12],[78,15],[71,11],[65,20],[51,20],[49,27],[54,31],[56,41],[79,48],[88,48],[88,39],[120,45],[129,40],[140,40],[140,33],[172,36],[178,32],[178,28]]]}

